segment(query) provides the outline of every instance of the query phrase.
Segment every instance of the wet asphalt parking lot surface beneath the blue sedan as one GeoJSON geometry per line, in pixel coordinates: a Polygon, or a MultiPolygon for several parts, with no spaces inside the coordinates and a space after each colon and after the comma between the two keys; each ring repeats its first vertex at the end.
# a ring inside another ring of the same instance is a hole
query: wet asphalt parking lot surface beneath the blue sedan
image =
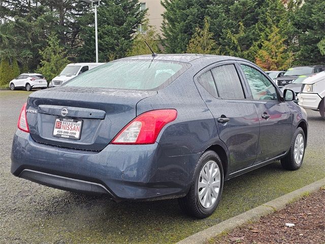
{"type": "Polygon", "coordinates": [[[308,111],[304,165],[285,171],[279,162],[226,181],[217,211],[188,218],[176,200],[114,203],[40,186],[10,173],[18,114],[30,93],[0,90],[0,243],[166,243],[238,215],[325,177],[325,121],[308,111]]]}

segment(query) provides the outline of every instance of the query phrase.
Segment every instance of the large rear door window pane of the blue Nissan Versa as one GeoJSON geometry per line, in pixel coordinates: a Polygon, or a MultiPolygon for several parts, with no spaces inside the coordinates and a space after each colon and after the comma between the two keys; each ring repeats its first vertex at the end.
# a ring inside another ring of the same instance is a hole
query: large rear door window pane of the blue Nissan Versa
{"type": "Polygon", "coordinates": [[[244,99],[243,87],[235,65],[222,65],[211,70],[218,94],[223,99],[244,99]]]}

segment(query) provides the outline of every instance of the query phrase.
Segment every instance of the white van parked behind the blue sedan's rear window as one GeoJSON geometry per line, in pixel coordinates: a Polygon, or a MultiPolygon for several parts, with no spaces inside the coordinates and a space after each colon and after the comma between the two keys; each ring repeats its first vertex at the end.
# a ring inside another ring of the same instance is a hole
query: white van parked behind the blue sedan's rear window
{"type": "Polygon", "coordinates": [[[75,63],[69,64],[64,68],[58,76],[55,76],[49,84],[49,87],[54,87],[71,80],[72,78],[80,75],[88,70],[96,68],[105,63],[75,63]]]}

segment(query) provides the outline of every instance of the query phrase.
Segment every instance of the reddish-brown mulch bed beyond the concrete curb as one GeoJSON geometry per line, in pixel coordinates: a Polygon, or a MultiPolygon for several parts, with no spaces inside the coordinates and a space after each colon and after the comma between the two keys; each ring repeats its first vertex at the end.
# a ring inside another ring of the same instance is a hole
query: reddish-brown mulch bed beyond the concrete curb
{"type": "Polygon", "coordinates": [[[209,241],[213,244],[320,244],[325,243],[325,188],[304,196],[260,221],[236,228],[209,241]],[[287,227],[286,223],[294,224],[287,227]]]}

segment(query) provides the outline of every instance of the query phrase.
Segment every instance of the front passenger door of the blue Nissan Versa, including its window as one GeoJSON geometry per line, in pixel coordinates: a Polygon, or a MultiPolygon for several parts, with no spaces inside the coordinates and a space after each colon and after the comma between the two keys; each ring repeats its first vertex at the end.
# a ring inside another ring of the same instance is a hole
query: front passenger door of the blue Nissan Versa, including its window
{"type": "Polygon", "coordinates": [[[256,164],[284,154],[293,137],[291,112],[275,85],[257,67],[240,62],[260,123],[256,164]]]}

